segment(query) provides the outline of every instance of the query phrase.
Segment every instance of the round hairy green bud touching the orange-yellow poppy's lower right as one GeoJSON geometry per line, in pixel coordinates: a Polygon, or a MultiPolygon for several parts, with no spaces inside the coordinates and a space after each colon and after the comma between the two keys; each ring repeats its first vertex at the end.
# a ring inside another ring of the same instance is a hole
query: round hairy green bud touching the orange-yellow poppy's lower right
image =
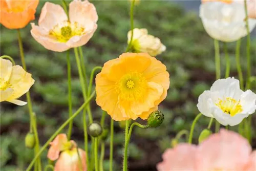
{"type": "Polygon", "coordinates": [[[158,127],[163,123],[164,115],[161,111],[155,111],[150,114],[147,118],[147,126],[158,127]]]}

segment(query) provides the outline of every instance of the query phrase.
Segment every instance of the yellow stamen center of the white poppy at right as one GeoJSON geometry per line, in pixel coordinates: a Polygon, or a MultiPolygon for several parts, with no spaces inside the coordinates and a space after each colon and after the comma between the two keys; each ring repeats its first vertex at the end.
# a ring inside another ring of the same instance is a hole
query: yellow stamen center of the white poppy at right
{"type": "Polygon", "coordinates": [[[243,111],[240,104],[240,100],[237,101],[231,97],[226,97],[224,100],[219,99],[219,102],[216,105],[226,114],[234,116],[243,111]]]}

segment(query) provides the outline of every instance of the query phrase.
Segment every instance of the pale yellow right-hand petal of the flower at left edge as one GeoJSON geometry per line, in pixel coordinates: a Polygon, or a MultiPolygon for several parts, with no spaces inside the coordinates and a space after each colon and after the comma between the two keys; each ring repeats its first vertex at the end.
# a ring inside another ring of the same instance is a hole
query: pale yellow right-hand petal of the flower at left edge
{"type": "Polygon", "coordinates": [[[17,99],[27,93],[35,80],[31,77],[31,74],[26,72],[22,67],[13,66],[9,82],[13,89],[13,94],[7,99],[7,101],[17,99]]]}

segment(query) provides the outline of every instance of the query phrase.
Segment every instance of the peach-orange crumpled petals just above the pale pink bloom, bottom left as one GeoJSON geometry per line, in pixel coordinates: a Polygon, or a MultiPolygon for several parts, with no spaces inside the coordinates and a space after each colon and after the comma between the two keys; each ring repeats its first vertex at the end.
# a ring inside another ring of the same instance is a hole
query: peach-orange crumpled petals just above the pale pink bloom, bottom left
{"type": "Polygon", "coordinates": [[[76,147],[76,143],[73,140],[68,141],[66,134],[57,135],[55,139],[50,142],[50,145],[47,157],[53,161],[59,158],[60,152],[76,147]]]}

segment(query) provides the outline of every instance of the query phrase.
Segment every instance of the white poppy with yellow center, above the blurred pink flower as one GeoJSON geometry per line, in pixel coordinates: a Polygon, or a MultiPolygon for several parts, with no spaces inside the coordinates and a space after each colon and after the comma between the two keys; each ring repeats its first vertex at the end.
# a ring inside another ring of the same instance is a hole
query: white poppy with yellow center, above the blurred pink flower
{"type": "Polygon", "coordinates": [[[242,91],[239,80],[219,79],[198,98],[198,110],[222,125],[234,126],[256,110],[256,94],[242,91]]]}

